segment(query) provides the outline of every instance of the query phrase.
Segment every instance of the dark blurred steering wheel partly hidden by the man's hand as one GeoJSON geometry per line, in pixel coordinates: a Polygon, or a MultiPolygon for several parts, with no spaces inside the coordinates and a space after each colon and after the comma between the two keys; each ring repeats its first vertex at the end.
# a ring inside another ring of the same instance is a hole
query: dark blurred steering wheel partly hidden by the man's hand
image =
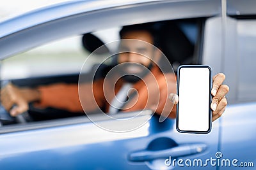
{"type": "MultiPolygon", "coordinates": [[[[8,83],[10,83],[9,80],[1,81],[1,88],[8,85],[8,83]]],[[[15,105],[13,105],[12,107],[15,107],[15,105]]],[[[27,111],[20,115],[17,115],[17,117],[12,117],[0,102],[0,126],[2,126],[5,123],[12,124],[13,122],[18,122],[19,124],[26,124],[30,119],[31,118],[27,111]]]]}

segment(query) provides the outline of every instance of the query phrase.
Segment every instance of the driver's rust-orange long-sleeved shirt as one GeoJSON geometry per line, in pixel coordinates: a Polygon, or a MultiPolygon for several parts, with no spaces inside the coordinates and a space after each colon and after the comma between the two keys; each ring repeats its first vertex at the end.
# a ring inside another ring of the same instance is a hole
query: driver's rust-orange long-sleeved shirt
{"type": "MultiPolygon", "coordinates": [[[[100,79],[93,83],[83,83],[79,87],[77,84],[66,83],[38,87],[41,100],[37,106],[60,108],[73,112],[92,112],[98,109],[108,112],[109,103],[124,84],[122,79],[117,82],[114,80],[115,78],[113,80],[100,79]]],[[[175,117],[176,108],[174,107],[172,110],[173,104],[168,99],[168,94],[176,93],[174,74],[163,74],[158,67],[154,66],[151,73],[143,78],[143,81],[134,83],[133,88],[136,90],[135,95],[129,99],[122,111],[150,109],[159,115],[164,113],[169,117],[175,117]]]]}

